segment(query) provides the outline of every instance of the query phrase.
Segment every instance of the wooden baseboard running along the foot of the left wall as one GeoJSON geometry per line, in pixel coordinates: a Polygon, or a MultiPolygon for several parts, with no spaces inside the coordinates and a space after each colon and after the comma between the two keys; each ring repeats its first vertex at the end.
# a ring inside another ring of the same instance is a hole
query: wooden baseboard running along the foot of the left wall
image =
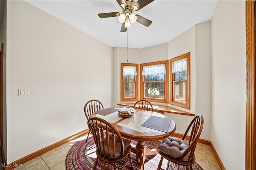
{"type": "Polygon", "coordinates": [[[32,154],[24,156],[23,158],[20,158],[20,159],[18,159],[16,161],[10,163],[9,164],[10,166],[9,165],[6,166],[5,170],[12,170],[13,168],[15,168],[14,165],[24,164],[25,162],[28,162],[29,160],[32,160],[32,159],[36,158],[37,156],[40,156],[41,154],[44,154],[44,153],[46,153],[46,152],[48,152],[48,151],[50,151],[50,150],[52,150],[52,149],[54,149],[56,147],[59,147],[60,145],[63,145],[64,143],[72,141],[73,139],[76,139],[76,138],[78,138],[78,137],[88,133],[88,131],[89,131],[89,129],[86,129],[84,131],[76,133],[75,135],[67,137],[66,139],[63,139],[62,141],[56,142],[56,143],[54,143],[54,144],[52,144],[52,145],[50,145],[48,147],[45,147],[45,148],[43,148],[41,150],[38,150],[38,151],[36,151],[36,152],[34,152],[32,154]]]}

